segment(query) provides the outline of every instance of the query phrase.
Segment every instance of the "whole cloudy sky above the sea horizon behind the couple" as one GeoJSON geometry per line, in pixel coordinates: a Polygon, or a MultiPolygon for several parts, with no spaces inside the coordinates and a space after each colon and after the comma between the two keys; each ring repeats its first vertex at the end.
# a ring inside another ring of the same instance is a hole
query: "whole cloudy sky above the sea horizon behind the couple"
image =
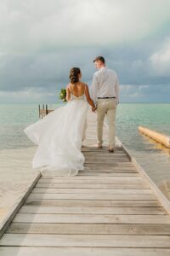
{"type": "Polygon", "coordinates": [[[170,102],[169,0],[0,0],[0,102],[56,102],[94,58],[120,82],[120,102],[170,102]]]}

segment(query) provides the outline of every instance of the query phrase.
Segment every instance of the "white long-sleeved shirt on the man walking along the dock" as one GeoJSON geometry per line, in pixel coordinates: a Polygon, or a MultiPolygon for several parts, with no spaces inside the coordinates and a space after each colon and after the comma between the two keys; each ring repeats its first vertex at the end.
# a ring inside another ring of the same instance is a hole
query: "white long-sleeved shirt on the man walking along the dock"
{"type": "Polygon", "coordinates": [[[94,78],[90,88],[90,96],[97,101],[98,97],[116,97],[119,102],[119,81],[115,71],[109,67],[101,67],[94,73],[94,78]]]}

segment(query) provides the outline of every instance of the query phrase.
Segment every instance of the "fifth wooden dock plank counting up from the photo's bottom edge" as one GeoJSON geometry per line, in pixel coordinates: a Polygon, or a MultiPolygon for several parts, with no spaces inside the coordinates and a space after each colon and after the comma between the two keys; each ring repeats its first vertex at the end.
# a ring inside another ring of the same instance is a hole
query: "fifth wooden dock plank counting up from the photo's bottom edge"
{"type": "Polygon", "coordinates": [[[28,207],[20,213],[81,213],[81,214],[167,214],[163,207],[28,207]]]}

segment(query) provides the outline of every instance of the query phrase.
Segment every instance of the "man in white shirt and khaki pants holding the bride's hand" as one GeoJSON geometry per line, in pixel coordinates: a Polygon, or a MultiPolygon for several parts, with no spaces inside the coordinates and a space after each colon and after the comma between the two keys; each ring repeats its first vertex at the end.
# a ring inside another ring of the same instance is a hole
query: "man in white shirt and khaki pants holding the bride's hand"
{"type": "Polygon", "coordinates": [[[105,115],[109,125],[109,148],[114,152],[116,135],[116,107],[119,103],[119,81],[116,72],[105,66],[105,59],[98,56],[94,60],[99,69],[94,73],[91,86],[91,97],[96,103],[98,148],[102,148],[103,125],[105,115]]]}

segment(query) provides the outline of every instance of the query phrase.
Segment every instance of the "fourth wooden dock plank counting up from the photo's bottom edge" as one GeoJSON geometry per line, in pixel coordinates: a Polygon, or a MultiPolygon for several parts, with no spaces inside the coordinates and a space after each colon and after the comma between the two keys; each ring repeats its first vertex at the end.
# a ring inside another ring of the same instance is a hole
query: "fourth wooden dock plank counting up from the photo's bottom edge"
{"type": "Polygon", "coordinates": [[[26,214],[18,213],[13,222],[23,223],[103,223],[170,224],[168,215],[99,215],[99,214],[26,214]]]}

